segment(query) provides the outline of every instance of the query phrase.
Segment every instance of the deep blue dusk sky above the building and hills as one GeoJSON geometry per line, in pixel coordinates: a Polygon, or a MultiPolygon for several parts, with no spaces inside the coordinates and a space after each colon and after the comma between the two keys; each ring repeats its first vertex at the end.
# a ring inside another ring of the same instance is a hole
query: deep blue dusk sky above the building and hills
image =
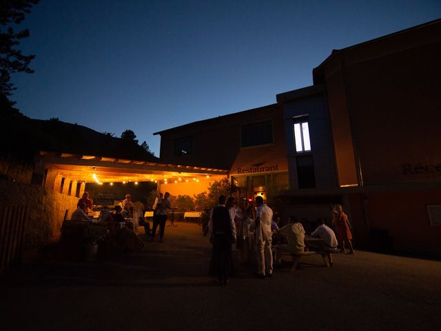
{"type": "Polygon", "coordinates": [[[276,102],[331,51],[441,17],[440,0],[41,0],[22,23],[28,117],[153,132],[276,102]]]}

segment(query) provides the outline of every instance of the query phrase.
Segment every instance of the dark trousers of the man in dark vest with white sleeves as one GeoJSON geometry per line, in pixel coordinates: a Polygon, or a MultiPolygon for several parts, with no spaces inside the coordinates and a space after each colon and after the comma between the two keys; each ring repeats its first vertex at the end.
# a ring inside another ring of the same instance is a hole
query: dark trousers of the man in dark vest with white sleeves
{"type": "Polygon", "coordinates": [[[232,239],[227,234],[214,234],[214,273],[221,281],[226,281],[232,266],[232,239]]]}

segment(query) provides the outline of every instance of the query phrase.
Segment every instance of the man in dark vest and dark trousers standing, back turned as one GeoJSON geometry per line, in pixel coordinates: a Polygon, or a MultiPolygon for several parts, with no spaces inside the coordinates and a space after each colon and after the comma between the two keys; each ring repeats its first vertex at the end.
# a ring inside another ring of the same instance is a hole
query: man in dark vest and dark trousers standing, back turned
{"type": "Polygon", "coordinates": [[[214,274],[220,285],[227,285],[232,266],[232,244],[236,241],[236,227],[225,206],[227,197],[218,197],[218,206],[212,209],[208,228],[212,248],[214,274]]]}

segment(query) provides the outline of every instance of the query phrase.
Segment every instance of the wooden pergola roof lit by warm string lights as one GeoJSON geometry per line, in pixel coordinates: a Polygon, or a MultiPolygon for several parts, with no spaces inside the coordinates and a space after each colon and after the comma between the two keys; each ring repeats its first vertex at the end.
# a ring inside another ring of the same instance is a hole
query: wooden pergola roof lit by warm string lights
{"type": "Polygon", "coordinates": [[[227,175],[223,169],[47,151],[39,152],[34,168],[34,178],[45,188],[72,196],[81,195],[85,183],[152,181],[161,185],[227,175]]]}

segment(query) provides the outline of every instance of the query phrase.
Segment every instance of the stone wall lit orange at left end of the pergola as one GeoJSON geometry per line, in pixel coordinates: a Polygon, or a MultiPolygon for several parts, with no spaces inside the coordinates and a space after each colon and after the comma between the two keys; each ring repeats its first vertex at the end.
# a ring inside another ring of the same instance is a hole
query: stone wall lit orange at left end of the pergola
{"type": "Polygon", "coordinates": [[[78,198],[37,185],[0,181],[0,205],[26,205],[25,246],[41,245],[59,235],[65,210],[76,209],[78,198]]]}

